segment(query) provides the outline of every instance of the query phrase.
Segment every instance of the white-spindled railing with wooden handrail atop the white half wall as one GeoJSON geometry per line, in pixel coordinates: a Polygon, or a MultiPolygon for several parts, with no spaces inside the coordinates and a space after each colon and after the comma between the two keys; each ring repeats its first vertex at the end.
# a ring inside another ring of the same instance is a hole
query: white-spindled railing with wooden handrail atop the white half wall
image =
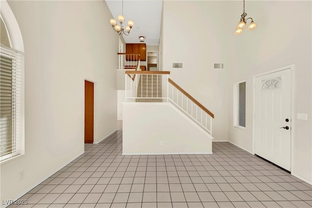
{"type": "Polygon", "coordinates": [[[125,74],[126,102],[170,102],[212,136],[214,113],[170,79],[170,72],[126,71],[125,74]]]}

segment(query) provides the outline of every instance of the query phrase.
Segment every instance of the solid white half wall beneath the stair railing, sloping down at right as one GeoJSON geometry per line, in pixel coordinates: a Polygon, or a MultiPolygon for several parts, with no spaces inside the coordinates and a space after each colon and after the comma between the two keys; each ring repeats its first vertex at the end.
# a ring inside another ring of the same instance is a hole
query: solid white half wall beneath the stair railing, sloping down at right
{"type": "Polygon", "coordinates": [[[122,154],[211,154],[212,139],[170,103],[123,103],[122,154]]]}

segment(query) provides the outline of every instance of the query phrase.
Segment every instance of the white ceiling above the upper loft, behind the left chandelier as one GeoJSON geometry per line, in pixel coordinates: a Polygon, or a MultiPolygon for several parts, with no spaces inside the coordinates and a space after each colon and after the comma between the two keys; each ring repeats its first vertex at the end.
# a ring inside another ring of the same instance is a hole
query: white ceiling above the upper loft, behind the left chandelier
{"type": "MultiPolygon", "coordinates": [[[[114,19],[122,13],[121,0],[105,0],[114,19]]],[[[126,43],[139,43],[144,36],[146,45],[159,45],[162,0],[124,0],[123,16],[125,28],[128,20],[135,22],[129,36],[123,35],[126,43]]],[[[109,19],[107,19],[109,24],[109,19]]]]}

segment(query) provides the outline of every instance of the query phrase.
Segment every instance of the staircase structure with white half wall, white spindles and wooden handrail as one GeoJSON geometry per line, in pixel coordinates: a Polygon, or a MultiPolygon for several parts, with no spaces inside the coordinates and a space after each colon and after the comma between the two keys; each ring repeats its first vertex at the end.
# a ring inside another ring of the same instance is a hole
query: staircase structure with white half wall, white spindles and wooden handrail
{"type": "Polygon", "coordinates": [[[126,71],[123,155],[211,154],[214,114],[169,71],[126,71]]]}

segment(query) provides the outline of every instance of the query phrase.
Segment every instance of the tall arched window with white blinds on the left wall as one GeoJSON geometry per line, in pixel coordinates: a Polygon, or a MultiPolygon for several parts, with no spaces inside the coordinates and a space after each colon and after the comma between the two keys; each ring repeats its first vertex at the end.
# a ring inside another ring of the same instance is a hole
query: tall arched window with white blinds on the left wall
{"type": "Polygon", "coordinates": [[[18,50],[23,50],[23,42],[15,17],[12,25],[5,21],[12,16],[7,2],[1,1],[0,163],[24,154],[24,53],[18,50]]]}

